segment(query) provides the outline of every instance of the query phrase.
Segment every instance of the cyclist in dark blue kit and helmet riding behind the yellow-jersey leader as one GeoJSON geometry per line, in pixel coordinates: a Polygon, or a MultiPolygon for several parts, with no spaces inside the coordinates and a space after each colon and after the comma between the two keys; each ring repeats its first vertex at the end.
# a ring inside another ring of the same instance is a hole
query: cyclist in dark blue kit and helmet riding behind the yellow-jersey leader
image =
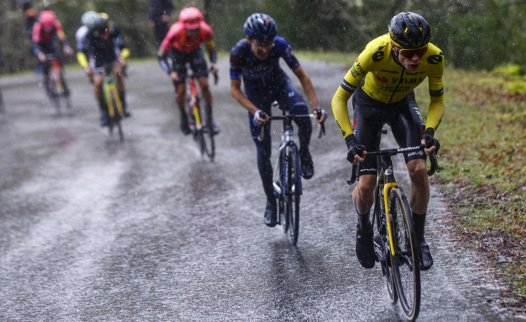
{"type": "MultiPolygon", "coordinates": [[[[231,95],[248,110],[249,127],[256,143],[258,170],[263,189],[267,195],[264,222],[269,227],[277,223],[277,204],[272,186],[272,164],[270,163],[270,122],[261,113],[272,115],[270,106],[277,101],[281,108],[293,115],[308,114],[309,108],[299,90],[293,86],[285,72],[279,67],[279,58],[287,63],[302,84],[313,109],[320,108],[318,97],[309,75],[299,65],[288,42],[277,35],[274,19],[264,13],[254,13],[245,22],[246,38],[240,40],[230,52],[230,92],[231,95]],[[245,93],[241,91],[241,79],[245,93]],[[265,127],[263,141],[259,141],[259,125],[265,127]]],[[[315,111],[313,112],[316,113],[315,111]]],[[[327,113],[322,111],[324,122],[327,113]]],[[[314,166],[309,153],[311,140],[311,120],[295,121],[299,130],[299,156],[302,165],[302,176],[310,179],[314,166]]]]}

